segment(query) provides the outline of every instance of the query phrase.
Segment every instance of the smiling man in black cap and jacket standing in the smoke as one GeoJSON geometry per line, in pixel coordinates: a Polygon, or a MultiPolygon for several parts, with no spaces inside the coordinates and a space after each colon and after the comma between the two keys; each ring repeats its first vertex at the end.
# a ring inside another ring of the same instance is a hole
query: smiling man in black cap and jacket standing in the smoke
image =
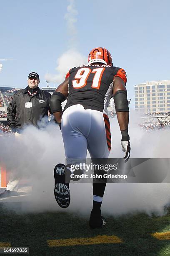
{"type": "MultiPolygon", "coordinates": [[[[27,125],[39,127],[39,121],[44,117],[48,118],[51,95],[49,92],[40,90],[39,83],[39,75],[31,72],[28,75],[28,87],[16,92],[7,108],[7,122],[15,132],[15,137],[22,136],[23,129],[27,125]]],[[[18,174],[12,172],[7,189],[0,194],[0,199],[18,195],[19,181],[18,174]]]]}

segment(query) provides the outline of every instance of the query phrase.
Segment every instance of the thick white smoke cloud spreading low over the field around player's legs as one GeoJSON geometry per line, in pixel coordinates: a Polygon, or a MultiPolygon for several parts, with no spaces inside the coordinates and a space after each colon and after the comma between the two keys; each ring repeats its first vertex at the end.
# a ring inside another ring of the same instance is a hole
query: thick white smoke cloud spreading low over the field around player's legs
{"type": "MultiPolygon", "coordinates": [[[[138,126],[137,120],[138,115],[131,111],[129,128],[131,157],[170,158],[168,144],[165,143],[170,140],[169,129],[146,132],[138,126]]],[[[110,123],[112,134],[110,158],[122,158],[124,153],[120,146],[121,135],[117,119],[112,119],[110,123]]],[[[18,170],[20,176],[23,174],[29,176],[30,183],[33,184],[32,195],[28,197],[30,203],[23,202],[23,210],[61,211],[53,195],[54,166],[65,163],[60,129],[55,125],[49,125],[42,131],[30,127],[25,130],[22,141],[11,137],[0,137],[0,145],[0,156],[6,168],[18,170]]],[[[89,215],[92,207],[92,184],[72,183],[70,193],[71,202],[67,211],[89,215]]],[[[168,203],[170,203],[169,184],[107,184],[102,212],[121,215],[138,211],[163,215],[164,206],[168,203]]]]}

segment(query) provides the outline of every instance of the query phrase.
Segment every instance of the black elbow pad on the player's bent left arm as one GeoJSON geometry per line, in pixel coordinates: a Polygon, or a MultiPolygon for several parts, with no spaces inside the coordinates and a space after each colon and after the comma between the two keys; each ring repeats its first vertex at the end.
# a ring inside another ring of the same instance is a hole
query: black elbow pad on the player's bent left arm
{"type": "Polygon", "coordinates": [[[53,92],[50,99],[50,109],[52,113],[62,111],[61,103],[65,101],[65,96],[61,92],[53,92]]]}

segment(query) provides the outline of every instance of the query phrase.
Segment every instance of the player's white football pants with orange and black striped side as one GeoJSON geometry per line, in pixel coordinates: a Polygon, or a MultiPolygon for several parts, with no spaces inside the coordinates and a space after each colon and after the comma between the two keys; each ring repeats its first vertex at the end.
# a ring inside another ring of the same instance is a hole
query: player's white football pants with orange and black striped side
{"type": "Polygon", "coordinates": [[[84,109],[77,104],[67,108],[61,121],[66,164],[78,164],[91,158],[108,158],[111,148],[110,124],[107,115],[84,109]]]}

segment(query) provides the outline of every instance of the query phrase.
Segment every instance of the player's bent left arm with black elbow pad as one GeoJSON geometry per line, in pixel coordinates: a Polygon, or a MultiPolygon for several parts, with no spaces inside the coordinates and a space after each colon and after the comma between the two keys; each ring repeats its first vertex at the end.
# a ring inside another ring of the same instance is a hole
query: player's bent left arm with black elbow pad
{"type": "Polygon", "coordinates": [[[50,99],[50,109],[52,114],[55,117],[55,120],[61,125],[61,113],[62,113],[62,106],[61,103],[67,99],[68,96],[68,77],[62,82],[55,92],[53,92],[51,99],[50,99]]]}

